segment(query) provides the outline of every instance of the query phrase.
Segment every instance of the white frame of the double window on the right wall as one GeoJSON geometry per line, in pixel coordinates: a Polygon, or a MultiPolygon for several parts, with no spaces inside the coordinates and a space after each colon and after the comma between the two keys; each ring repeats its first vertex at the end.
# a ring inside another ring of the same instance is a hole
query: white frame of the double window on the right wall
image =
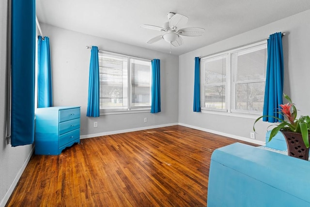
{"type": "Polygon", "coordinates": [[[253,50],[255,51],[254,48],[256,47],[265,47],[267,48],[267,40],[263,40],[260,42],[256,42],[253,44],[248,44],[246,46],[241,46],[229,50],[225,50],[223,52],[219,52],[210,56],[203,57],[201,59],[201,110],[202,113],[211,113],[211,114],[221,114],[221,115],[227,115],[227,116],[236,116],[236,117],[244,117],[244,118],[257,118],[259,115],[262,114],[262,112],[248,112],[248,111],[239,111],[239,110],[234,110],[233,109],[233,104],[232,104],[232,93],[233,93],[233,68],[232,68],[232,54],[235,52],[239,52],[242,50],[250,51],[253,50]],[[227,110],[219,110],[219,109],[211,109],[211,108],[206,108],[204,106],[205,100],[204,100],[204,63],[206,61],[212,61],[216,60],[217,57],[223,57],[226,56],[226,108],[227,110]]]}

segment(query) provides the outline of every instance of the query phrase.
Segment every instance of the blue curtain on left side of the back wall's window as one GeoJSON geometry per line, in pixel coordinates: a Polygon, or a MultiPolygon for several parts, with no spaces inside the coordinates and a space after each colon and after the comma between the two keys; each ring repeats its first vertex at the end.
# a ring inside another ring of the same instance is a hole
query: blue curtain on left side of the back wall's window
{"type": "Polygon", "coordinates": [[[86,116],[99,116],[99,62],[98,48],[96,46],[93,46],[91,51],[86,116]]]}

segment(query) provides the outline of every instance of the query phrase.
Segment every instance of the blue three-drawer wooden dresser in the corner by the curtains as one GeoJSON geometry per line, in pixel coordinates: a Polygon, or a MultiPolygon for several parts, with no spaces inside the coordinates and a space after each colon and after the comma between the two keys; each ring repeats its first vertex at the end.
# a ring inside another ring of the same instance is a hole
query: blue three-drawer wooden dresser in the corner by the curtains
{"type": "Polygon", "coordinates": [[[35,154],[59,155],[80,143],[80,107],[46,107],[35,110],[35,154]]]}

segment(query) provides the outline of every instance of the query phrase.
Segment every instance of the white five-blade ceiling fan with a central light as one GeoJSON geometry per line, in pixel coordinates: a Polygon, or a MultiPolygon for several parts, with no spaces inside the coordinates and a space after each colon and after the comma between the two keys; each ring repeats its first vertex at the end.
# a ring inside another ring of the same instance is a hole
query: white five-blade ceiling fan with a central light
{"type": "Polygon", "coordinates": [[[154,25],[142,24],[141,28],[157,30],[165,32],[162,35],[155,36],[146,43],[152,44],[161,39],[169,42],[174,47],[181,46],[183,44],[183,39],[180,35],[183,36],[201,36],[204,32],[204,29],[198,27],[186,27],[178,29],[178,27],[183,26],[187,23],[188,17],[176,13],[168,13],[169,22],[164,23],[163,27],[158,27],[154,25]]]}

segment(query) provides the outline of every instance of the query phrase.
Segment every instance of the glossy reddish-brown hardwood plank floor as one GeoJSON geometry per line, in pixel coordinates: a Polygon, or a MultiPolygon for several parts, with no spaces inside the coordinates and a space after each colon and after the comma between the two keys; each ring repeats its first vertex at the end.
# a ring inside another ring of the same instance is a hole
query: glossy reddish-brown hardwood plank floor
{"type": "Polygon", "coordinates": [[[205,207],[211,154],[235,142],[182,126],[82,139],[33,155],[6,206],[205,207]]]}

